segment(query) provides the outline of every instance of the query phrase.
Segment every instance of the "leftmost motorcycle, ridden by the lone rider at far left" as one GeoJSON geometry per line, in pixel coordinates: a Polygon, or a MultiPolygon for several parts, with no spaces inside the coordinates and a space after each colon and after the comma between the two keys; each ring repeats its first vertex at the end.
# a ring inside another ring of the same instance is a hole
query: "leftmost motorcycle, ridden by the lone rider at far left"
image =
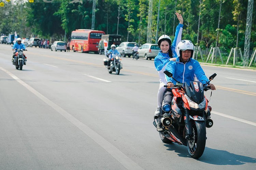
{"type": "Polygon", "coordinates": [[[14,57],[12,56],[12,64],[16,67],[16,69],[22,70],[23,65],[26,65],[27,57],[23,53],[23,51],[27,51],[26,49],[15,49],[14,57]]]}

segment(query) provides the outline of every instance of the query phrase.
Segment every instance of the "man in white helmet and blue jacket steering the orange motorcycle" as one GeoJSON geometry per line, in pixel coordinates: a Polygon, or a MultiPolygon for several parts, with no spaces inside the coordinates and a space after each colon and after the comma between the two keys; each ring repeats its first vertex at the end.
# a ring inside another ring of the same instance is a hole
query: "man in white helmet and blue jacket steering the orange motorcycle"
{"type": "MultiPolygon", "coordinates": [[[[194,80],[196,76],[197,79],[205,84],[209,81],[206,77],[203,69],[201,68],[198,61],[191,58],[194,53],[194,45],[190,40],[181,40],[177,45],[177,55],[176,61],[170,61],[165,70],[168,70],[173,75],[173,78],[181,83],[188,83],[194,80]]],[[[172,78],[166,76],[167,87],[173,87],[176,82],[172,78]]],[[[208,84],[212,90],[215,90],[213,84],[208,84]]],[[[163,96],[163,102],[171,105],[173,94],[170,88],[167,88],[163,96]]],[[[162,124],[158,121],[157,131],[162,132],[162,124]]]]}

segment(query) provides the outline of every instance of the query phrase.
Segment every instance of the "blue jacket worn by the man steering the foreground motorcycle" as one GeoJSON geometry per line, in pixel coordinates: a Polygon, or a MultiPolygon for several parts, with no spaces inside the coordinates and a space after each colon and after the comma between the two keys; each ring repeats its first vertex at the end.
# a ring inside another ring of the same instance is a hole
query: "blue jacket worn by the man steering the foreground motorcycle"
{"type": "MultiPolygon", "coordinates": [[[[190,81],[194,81],[194,77],[197,77],[197,79],[203,84],[209,81],[199,62],[193,58],[189,58],[189,60],[184,64],[180,62],[180,57],[177,57],[176,62],[170,61],[166,65],[165,70],[171,72],[173,74],[172,77],[180,83],[187,82],[189,84],[190,81]]],[[[176,81],[167,75],[166,81],[176,84],[176,81]]]]}

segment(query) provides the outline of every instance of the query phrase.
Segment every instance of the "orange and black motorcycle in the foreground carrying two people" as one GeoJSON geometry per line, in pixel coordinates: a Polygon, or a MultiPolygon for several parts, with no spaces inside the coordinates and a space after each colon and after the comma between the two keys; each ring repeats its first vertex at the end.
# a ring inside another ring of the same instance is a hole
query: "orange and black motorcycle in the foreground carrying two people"
{"type": "MultiPolygon", "coordinates": [[[[169,71],[166,70],[164,73],[175,80],[169,71]]],[[[209,80],[212,81],[216,75],[216,73],[211,75],[209,80]]],[[[162,142],[185,145],[189,155],[197,159],[204,152],[206,128],[213,126],[213,121],[210,119],[212,108],[208,105],[209,100],[204,96],[204,91],[210,90],[207,86],[209,82],[202,84],[196,78],[189,84],[176,82],[176,85],[171,87],[172,106],[164,103],[160,116],[154,117],[153,124],[157,128],[158,121],[161,121],[163,131],[159,132],[159,136],[162,142]]]]}

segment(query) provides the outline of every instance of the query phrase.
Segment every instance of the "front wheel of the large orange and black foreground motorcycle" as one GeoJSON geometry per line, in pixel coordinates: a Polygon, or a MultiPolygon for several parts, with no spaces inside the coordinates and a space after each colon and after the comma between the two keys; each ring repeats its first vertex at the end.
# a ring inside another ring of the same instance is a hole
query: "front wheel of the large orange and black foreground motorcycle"
{"type": "Polygon", "coordinates": [[[203,121],[192,123],[192,137],[187,139],[187,150],[192,158],[198,159],[202,156],[206,143],[206,129],[203,121]]]}

